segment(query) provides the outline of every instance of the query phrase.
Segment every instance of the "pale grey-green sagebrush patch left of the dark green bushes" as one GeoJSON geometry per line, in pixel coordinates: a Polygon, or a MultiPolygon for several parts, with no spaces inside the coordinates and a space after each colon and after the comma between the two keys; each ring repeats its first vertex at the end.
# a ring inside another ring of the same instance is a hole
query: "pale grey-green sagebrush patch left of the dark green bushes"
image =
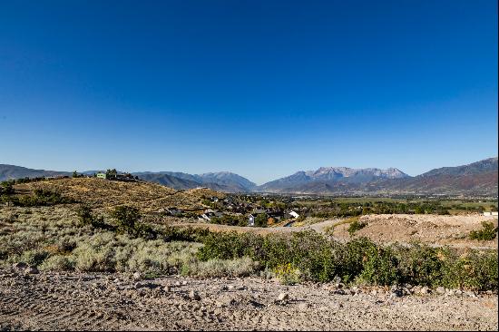
{"type": "Polygon", "coordinates": [[[249,276],[251,259],[201,262],[201,243],[132,239],[82,226],[71,206],[0,208],[0,266],[23,261],[41,270],[122,271],[191,277],[249,276]]]}

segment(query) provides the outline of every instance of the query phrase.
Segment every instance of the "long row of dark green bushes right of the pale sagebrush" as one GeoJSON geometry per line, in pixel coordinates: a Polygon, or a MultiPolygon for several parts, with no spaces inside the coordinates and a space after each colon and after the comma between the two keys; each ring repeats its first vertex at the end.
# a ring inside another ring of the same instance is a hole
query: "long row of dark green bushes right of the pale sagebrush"
{"type": "Polygon", "coordinates": [[[308,232],[291,235],[210,233],[203,240],[198,259],[249,259],[273,271],[290,266],[300,278],[327,282],[413,285],[447,288],[497,289],[497,252],[472,252],[466,257],[448,248],[380,246],[367,238],[339,243],[308,232]]]}

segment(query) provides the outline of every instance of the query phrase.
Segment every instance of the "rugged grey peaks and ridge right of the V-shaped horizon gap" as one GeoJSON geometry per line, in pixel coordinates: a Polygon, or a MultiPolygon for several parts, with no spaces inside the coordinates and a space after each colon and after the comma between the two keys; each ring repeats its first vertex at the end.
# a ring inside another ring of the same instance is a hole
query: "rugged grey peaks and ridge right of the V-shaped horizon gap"
{"type": "Polygon", "coordinates": [[[344,167],[298,171],[256,190],[299,194],[497,194],[497,157],[427,171],[416,177],[397,169],[344,167]]]}

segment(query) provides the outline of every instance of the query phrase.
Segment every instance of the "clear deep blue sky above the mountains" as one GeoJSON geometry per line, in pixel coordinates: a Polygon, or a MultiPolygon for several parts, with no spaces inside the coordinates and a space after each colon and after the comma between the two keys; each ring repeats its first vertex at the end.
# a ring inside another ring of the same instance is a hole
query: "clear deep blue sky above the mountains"
{"type": "Polygon", "coordinates": [[[497,155],[497,3],[2,1],[0,163],[416,175],[497,155]]]}

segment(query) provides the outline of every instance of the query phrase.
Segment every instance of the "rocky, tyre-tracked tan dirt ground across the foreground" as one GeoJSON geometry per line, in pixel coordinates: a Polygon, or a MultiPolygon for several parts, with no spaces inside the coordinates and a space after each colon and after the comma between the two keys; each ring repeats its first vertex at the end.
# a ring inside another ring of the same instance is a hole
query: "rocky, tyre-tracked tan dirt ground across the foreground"
{"type": "Polygon", "coordinates": [[[283,286],[263,278],[137,281],[124,274],[24,275],[14,269],[0,269],[0,298],[0,330],[498,327],[497,295],[437,294],[434,290],[426,295],[394,296],[388,288],[283,286]],[[279,294],[289,298],[279,301],[279,294]]]}

